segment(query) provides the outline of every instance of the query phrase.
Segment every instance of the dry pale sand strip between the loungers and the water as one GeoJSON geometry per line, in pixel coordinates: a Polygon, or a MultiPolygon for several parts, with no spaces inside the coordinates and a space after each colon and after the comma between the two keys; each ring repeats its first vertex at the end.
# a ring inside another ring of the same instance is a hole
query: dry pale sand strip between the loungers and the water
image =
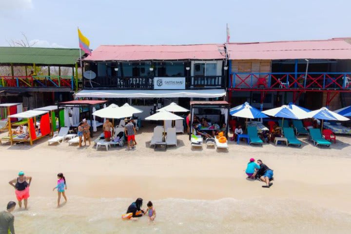
{"type": "MultiPolygon", "coordinates": [[[[313,209],[327,209],[327,214],[338,212],[351,217],[349,136],[337,136],[331,148],[314,147],[306,137],[300,137],[301,148],[273,144],[250,146],[245,142],[237,145],[230,141],[229,152],[216,152],[206,146],[203,150],[191,150],[188,136],[181,134],[177,135],[177,147],[154,151],[149,145],[151,136],[151,127],[141,128],[135,150],[112,147],[108,152],[105,148],[96,150],[93,144],[81,149],[66,142],[48,146],[48,138],[35,141],[32,147],[3,142],[0,145],[0,205],[4,207],[9,199],[15,200],[14,190],[7,182],[23,170],[33,176],[30,209],[35,209],[33,206],[38,205],[40,199],[45,204],[50,201],[49,206],[54,209],[57,194],[52,189],[56,186],[56,175],[61,172],[67,179],[68,198],[76,201],[125,198],[124,203],[130,203],[143,197],[164,204],[168,198],[214,201],[230,198],[243,204],[262,202],[277,207],[283,200],[284,206],[291,201],[294,209],[300,209],[300,215],[306,214],[302,210],[306,209],[305,205],[301,204],[308,204],[313,209]],[[270,189],[262,188],[262,182],[246,179],[246,164],[251,157],[263,160],[274,170],[270,189]]],[[[124,210],[128,205],[118,209],[124,210]]],[[[51,209],[46,206],[45,209],[51,209]]],[[[279,233],[280,229],[272,230],[279,233]]]]}

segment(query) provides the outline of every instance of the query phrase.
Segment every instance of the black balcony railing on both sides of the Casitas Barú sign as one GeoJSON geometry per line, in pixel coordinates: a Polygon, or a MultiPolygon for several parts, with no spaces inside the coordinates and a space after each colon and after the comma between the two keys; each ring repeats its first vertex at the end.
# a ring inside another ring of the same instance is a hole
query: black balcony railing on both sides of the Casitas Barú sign
{"type": "MultiPolygon", "coordinates": [[[[154,89],[154,78],[155,77],[97,77],[92,80],[94,81],[92,86],[96,89],[154,89]]],[[[92,89],[87,79],[84,80],[84,86],[87,89],[92,89]]],[[[186,77],[185,87],[186,89],[226,88],[226,78],[225,76],[186,77]]]]}

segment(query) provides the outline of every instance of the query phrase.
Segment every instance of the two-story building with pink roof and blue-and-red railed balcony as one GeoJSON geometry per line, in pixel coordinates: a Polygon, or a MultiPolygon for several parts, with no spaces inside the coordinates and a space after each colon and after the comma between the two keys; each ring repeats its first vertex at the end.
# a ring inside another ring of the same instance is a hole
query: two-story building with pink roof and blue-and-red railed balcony
{"type": "Polygon", "coordinates": [[[350,38],[229,43],[229,101],[269,109],[351,104],[350,38]]]}

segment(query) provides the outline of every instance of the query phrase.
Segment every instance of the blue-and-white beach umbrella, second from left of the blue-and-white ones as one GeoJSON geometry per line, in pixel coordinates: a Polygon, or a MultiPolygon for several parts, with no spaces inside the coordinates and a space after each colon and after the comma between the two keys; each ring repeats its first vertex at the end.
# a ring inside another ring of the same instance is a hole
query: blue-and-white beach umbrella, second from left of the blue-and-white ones
{"type": "Polygon", "coordinates": [[[307,113],[309,110],[300,106],[297,106],[293,103],[289,103],[288,105],[282,105],[281,107],[273,108],[267,111],[262,111],[262,113],[273,116],[273,117],[281,117],[282,119],[282,128],[284,123],[284,118],[292,118],[292,119],[303,119],[308,118],[307,113]]]}

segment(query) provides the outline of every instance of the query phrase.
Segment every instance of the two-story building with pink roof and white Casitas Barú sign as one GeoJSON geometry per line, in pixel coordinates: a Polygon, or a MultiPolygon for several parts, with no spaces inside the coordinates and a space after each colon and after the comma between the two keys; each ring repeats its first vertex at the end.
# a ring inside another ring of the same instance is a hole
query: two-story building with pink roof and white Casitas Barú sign
{"type": "Polygon", "coordinates": [[[227,69],[223,44],[101,45],[85,58],[76,98],[108,98],[150,111],[176,102],[189,109],[191,100],[217,100],[226,95],[227,69]],[[95,77],[95,76],[93,76],[95,77]]]}

